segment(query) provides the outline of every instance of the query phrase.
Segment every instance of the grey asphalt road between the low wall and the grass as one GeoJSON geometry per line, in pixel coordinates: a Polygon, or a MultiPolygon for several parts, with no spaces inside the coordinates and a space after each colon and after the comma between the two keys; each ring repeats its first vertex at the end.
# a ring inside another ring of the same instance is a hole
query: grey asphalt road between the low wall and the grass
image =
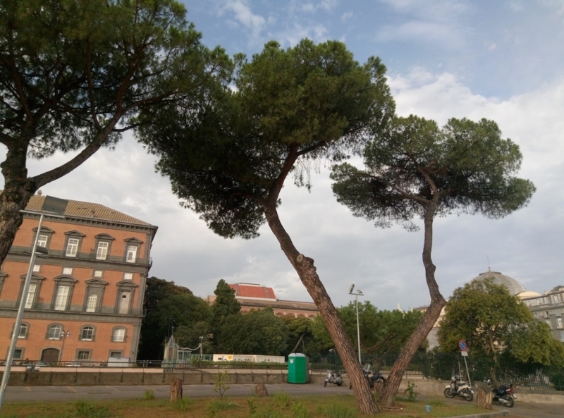
{"type": "MultiPolygon", "coordinates": [[[[352,394],[348,386],[327,386],[322,384],[295,385],[281,383],[266,385],[269,393],[284,391],[290,395],[347,395],[352,394]]],[[[227,396],[250,396],[255,389],[254,384],[231,385],[227,396]]],[[[6,403],[8,402],[72,402],[73,400],[117,400],[143,398],[145,391],[152,390],[156,398],[168,398],[169,386],[8,386],[6,403]]],[[[219,397],[214,392],[214,385],[185,385],[185,396],[191,397],[219,397]]],[[[564,405],[517,402],[513,408],[496,406],[498,410],[509,410],[511,418],[563,418],[564,405]]],[[[419,395],[418,399],[426,400],[428,396],[419,395]]],[[[436,398],[434,398],[436,399],[436,398]]],[[[461,399],[441,398],[448,403],[465,403],[461,399]]],[[[510,417],[507,417],[510,418],[510,417]]]]}

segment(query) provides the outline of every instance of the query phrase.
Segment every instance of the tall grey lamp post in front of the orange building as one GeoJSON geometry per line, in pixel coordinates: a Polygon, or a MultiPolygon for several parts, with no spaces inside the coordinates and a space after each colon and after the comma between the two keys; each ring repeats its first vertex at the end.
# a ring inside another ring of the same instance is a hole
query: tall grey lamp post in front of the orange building
{"type": "Polygon", "coordinates": [[[33,273],[33,265],[35,264],[35,257],[37,257],[37,252],[47,253],[47,250],[45,248],[37,247],[39,235],[41,234],[43,219],[46,215],[52,218],[64,218],[62,214],[64,213],[67,204],[67,200],[46,196],[41,211],[20,211],[23,214],[39,215],[39,225],[37,226],[37,233],[35,234],[35,240],[33,241],[30,265],[27,266],[27,275],[25,276],[25,281],[23,282],[23,290],[20,296],[20,305],[18,306],[18,314],[16,314],[16,324],[13,325],[12,340],[10,343],[10,348],[8,348],[8,356],[6,357],[6,367],[4,368],[4,374],[2,375],[2,383],[0,383],[0,412],[2,411],[2,405],[4,405],[4,398],[6,398],[6,387],[8,386],[8,379],[10,379],[10,371],[12,369],[13,355],[16,351],[16,343],[18,341],[18,336],[20,335],[20,326],[23,319],[23,309],[25,308],[27,293],[30,291],[31,276],[33,273]]]}

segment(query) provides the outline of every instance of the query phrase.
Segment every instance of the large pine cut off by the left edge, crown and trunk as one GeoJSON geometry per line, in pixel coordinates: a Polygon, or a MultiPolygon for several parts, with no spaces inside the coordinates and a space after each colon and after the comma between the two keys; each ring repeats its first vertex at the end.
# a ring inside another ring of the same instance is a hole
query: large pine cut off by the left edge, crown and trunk
{"type": "Polygon", "coordinates": [[[196,99],[222,57],[174,0],[1,1],[0,263],[39,188],[113,146],[140,109],[196,99]],[[28,157],[57,151],[78,153],[27,175],[28,157]]]}

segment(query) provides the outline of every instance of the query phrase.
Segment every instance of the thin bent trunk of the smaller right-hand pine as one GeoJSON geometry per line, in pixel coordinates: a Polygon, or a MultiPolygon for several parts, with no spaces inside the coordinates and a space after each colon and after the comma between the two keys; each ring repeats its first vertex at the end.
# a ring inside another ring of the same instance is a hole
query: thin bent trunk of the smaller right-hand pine
{"type": "Polygon", "coordinates": [[[396,359],[396,362],[393,364],[381,398],[382,404],[385,406],[393,405],[393,400],[396,398],[396,393],[398,393],[403,374],[407,370],[411,359],[422,345],[425,338],[429,335],[436,320],[439,319],[441,309],[443,309],[443,306],[446,304],[443,295],[439,292],[439,285],[437,285],[435,280],[436,267],[431,259],[431,250],[433,248],[433,218],[438,200],[439,196],[435,195],[434,199],[429,202],[424,215],[425,237],[422,257],[427,287],[431,295],[431,304],[421,321],[419,321],[417,328],[415,328],[415,331],[413,331],[410,338],[401,349],[398,359],[396,359]]]}

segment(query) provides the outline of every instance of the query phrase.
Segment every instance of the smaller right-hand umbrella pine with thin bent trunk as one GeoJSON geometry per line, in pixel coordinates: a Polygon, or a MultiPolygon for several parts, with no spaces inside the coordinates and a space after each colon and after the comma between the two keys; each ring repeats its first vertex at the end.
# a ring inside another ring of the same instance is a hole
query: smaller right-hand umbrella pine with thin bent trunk
{"type": "Polygon", "coordinates": [[[416,230],[423,219],[423,265],[431,304],[403,345],[384,388],[382,402],[391,405],[413,355],[441,314],[445,300],[431,259],[433,221],[448,214],[483,214],[501,218],[525,206],[534,192],[529,180],[515,177],[522,155],[501,138],[494,121],[450,119],[440,129],[434,121],[394,118],[374,130],[364,149],[365,170],[350,164],[333,168],[333,192],[354,216],[376,226],[400,223],[416,230]]]}

